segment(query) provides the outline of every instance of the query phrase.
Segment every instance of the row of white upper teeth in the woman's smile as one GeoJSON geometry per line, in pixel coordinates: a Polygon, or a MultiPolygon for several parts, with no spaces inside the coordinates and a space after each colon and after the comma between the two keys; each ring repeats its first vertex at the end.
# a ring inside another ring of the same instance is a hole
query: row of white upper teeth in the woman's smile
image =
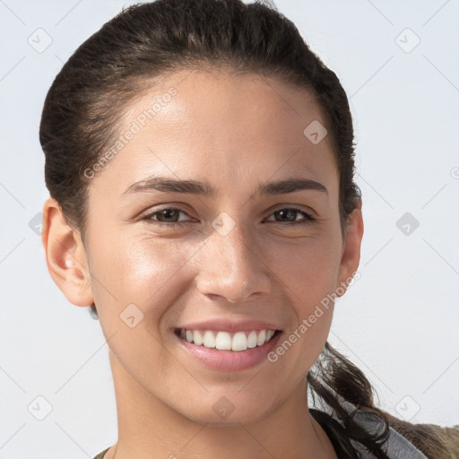
{"type": "Polygon", "coordinates": [[[187,342],[194,342],[197,346],[216,348],[220,351],[246,351],[247,349],[263,346],[273,338],[274,330],[252,330],[251,332],[234,333],[231,338],[228,332],[212,332],[206,330],[180,330],[180,337],[187,342]]]}

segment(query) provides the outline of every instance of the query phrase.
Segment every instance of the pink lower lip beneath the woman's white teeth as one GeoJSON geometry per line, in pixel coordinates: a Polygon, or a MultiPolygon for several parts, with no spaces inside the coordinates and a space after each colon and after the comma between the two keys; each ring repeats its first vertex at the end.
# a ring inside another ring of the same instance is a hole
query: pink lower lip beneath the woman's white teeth
{"type": "Polygon", "coordinates": [[[221,371],[242,371],[254,368],[264,360],[267,360],[269,352],[273,351],[279,341],[281,332],[276,333],[263,346],[255,346],[255,348],[247,349],[246,351],[219,351],[215,348],[197,346],[193,342],[186,341],[185,338],[175,336],[179,344],[185,348],[192,358],[202,363],[205,367],[221,371]]]}

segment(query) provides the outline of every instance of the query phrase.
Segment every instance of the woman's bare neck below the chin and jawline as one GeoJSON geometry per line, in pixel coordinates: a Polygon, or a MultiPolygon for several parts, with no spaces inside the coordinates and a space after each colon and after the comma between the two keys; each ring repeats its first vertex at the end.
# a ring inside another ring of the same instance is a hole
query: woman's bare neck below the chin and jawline
{"type": "Polygon", "coordinates": [[[305,380],[263,420],[217,427],[172,410],[147,393],[109,354],[118,440],[104,459],[337,459],[325,431],[309,414],[305,380]]]}

